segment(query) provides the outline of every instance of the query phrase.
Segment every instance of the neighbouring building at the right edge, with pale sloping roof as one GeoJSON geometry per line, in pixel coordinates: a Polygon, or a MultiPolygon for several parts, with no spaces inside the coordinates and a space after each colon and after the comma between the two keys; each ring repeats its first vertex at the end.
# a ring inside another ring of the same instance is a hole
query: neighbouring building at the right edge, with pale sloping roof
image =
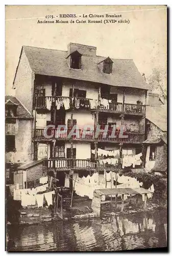
{"type": "Polygon", "coordinates": [[[146,106],[145,170],[167,175],[167,109],[166,105],[146,106]]]}

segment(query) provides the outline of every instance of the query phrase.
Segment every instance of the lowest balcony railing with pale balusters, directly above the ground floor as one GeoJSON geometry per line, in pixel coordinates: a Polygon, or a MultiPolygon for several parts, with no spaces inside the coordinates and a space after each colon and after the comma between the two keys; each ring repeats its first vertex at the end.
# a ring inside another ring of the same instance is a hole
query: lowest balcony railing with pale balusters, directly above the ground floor
{"type": "Polygon", "coordinates": [[[48,169],[57,168],[59,170],[69,170],[69,169],[83,169],[83,170],[91,170],[91,169],[99,169],[104,170],[114,170],[120,169],[121,165],[103,165],[99,162],[94,163],[89,159],[71,159],[71,158],[63,158],[63,159],[48,159],[44,160],[44,164],[48,169]]]}

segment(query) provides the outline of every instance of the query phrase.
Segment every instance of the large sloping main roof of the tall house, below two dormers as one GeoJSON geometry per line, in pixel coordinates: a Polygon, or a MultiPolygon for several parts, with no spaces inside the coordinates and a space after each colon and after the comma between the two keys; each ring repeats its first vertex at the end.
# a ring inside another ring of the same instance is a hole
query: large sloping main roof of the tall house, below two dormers
{"type": "Polygon", "coordinates": [[[149,90],[148,84],[139,73],[132,59],[111,58],[113,61],[112,73],[105,74],[97,63],[106,59],[106,57],[83,54],[82,69],[70,69],[66,60],[67,51],[31,46],[23,46],[22,50],[24,50],[30,67],[35,74],[98,82],[116,87],[149,90]]]}

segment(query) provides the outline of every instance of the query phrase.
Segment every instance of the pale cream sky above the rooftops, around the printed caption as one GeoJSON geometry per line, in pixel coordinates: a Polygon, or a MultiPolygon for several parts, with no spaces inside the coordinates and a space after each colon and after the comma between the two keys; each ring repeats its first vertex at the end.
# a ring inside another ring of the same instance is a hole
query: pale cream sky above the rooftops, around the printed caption
{"type": "Polygon", "coordinates": [[[6,95],[15,94],[12,84],[23,45],[64,51],[69,42],[95,46],[96,55],[133,59],[149,77],[155,67],[166,70],[166,34],[165,6],[6,6],[6,95]],[[45,15],[66,13],[115,13],[130,23],[37,24],[45,15]]]}

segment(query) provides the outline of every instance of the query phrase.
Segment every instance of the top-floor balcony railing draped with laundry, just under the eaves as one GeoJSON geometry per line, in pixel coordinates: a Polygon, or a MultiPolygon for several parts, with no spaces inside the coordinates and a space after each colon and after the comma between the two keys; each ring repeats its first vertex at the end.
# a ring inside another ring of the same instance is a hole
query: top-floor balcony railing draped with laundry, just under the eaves
{"type": "Polygon", "coordinates": [[[110,111],[116,113],[127,113],[144,115],[145,105],[139,104],[129,104],[129,103],[106,103],[101,104],[98,100],[80,98],[80,97],[63,97],[63,96],[35,96],[34,106],[38,109],[48,109],[51,110],[51,106],[59,109],[60,106],[64,106],[64,109],[97,109],[100,111],[110,111]]]}

